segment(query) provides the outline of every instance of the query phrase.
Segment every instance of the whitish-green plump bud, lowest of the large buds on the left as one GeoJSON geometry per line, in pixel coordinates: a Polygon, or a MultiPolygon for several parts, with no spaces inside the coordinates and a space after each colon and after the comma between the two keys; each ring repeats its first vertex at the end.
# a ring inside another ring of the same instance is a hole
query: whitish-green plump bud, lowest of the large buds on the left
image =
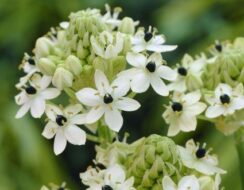
{"type": "Polygon", "coordinates": [[[71,87],[73,83],[73,75],[68,70],[59,67],[56,69],[52,83],[54,86],[56,86],[58,89],[64,89],[66,87],[71,87]]]}

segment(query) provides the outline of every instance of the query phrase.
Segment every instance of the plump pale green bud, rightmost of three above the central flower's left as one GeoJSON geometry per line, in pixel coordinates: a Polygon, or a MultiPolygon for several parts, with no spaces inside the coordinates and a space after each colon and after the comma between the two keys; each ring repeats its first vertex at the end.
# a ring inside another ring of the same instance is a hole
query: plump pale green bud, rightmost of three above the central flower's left
{"type": "Polygon", "coordinates": [[[74,55],[70,55],[65,60],[66,68],[74,75],[79,75],[82,71],[81,61],[74,55]]]}

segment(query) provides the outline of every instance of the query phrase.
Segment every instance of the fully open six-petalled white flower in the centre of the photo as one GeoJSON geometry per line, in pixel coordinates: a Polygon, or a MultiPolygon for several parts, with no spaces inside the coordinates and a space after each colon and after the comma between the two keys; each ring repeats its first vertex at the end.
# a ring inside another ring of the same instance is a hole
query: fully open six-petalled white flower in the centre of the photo
{"type": "Polygon", "coordinates": [[[92,107],[87,113],[87,123],[94,123],[104,115],[108,127],[118,132],[123,124],[120,110],[135,111],[140,104],[136,100],[124,97],[129,91],[129,86],[121,82],[120,78],[110,85],[104,73],[96,70],[95,84],[97,89],[83,88],[76,93],[81,103],[92,107]]]}

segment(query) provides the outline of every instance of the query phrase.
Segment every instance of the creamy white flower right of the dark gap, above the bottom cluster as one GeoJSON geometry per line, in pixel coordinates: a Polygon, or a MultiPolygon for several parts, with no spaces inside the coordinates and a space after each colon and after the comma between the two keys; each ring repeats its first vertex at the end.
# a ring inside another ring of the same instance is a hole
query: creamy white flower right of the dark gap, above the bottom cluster
{"type": "Polygon", "coordinates": [[[175,136],[180,131],[194,131],[197,126],[196,116],[201,114],[206,105],[199,102],[201,93],[194,91],[186,95],[175,93],[172,104],[163,113],[163,118],[169,124],[168,136],[175,136]]]}

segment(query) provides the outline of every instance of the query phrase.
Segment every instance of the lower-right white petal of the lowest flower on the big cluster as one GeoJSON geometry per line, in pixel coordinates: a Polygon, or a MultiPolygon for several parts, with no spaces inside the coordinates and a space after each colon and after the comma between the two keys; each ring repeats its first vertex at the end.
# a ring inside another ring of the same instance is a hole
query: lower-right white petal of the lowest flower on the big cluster
{"type": "Polygon", "coordinates": [[[86,142],[86,132],[76,125],[67,126],[64,135],[68,142],[74,145],[82,145],[86,142]]]}

